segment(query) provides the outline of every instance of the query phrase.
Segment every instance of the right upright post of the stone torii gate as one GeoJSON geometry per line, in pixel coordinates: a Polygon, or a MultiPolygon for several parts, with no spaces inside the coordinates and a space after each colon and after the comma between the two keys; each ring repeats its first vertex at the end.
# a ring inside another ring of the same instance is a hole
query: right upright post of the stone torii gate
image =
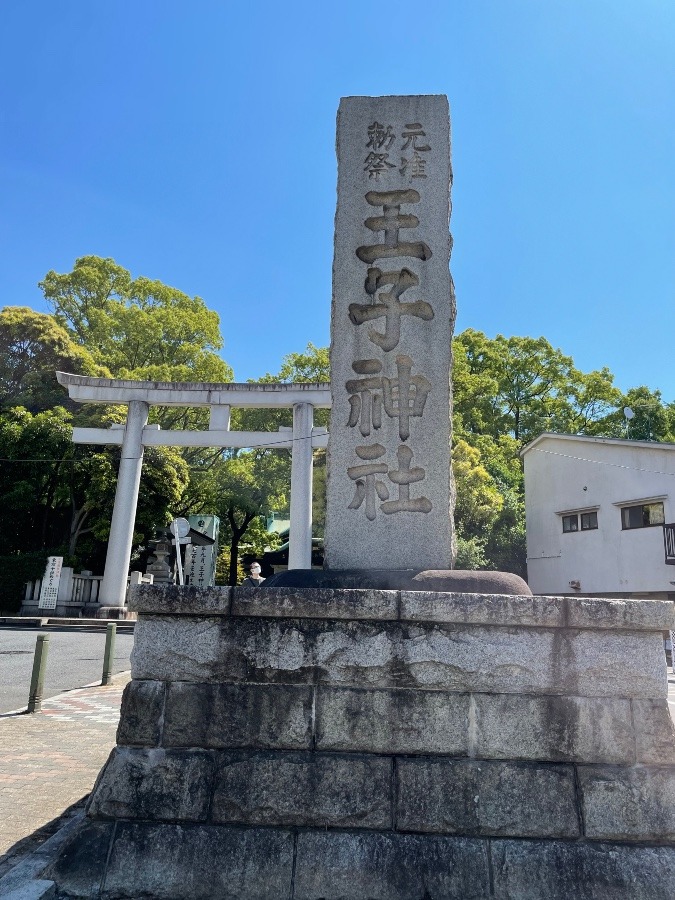
{"type": "Polygon", "coordinates": [[[312,568],[312,427],[311,403],[293,406],[293,457],[291,460],[291,527],[288,536],[288,568],[312,568]]]}

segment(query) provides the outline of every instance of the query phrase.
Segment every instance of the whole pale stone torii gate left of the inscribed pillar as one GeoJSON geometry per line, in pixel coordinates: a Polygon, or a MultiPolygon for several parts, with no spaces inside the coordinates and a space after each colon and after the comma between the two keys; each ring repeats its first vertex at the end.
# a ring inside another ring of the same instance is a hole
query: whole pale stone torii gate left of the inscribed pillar
{"type": "Polygon", "coordinates": [[[122,447],[110,538],[99,601],[123,607],[131,559],[138,489],[145,447],[264,447],[290,449],[291,525],[289,569],[312,566],[312,450],[328,446],[325,428],[314,428],[314,408],[331,405],[329,384],[210,384],[90,378],[57,372],[59,384],[79,403],[127,404],[125,425],[74,428],[76,444],[122,447]],[[151,406],[208,407],[208,431],[170,431],[148,425],[151,406]],[[293,408],[293,427],[273,431],[230,431],[232,407],[293,408]]]}

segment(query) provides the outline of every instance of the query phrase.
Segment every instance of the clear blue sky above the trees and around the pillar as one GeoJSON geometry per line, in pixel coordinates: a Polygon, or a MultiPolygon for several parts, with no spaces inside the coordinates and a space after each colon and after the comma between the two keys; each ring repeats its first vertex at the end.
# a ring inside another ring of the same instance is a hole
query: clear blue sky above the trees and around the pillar
{"type": "Polygon", "coordinates": [[[198,294],[237,380],[328,343],[340,96],[446,93],[459,330],[675,400],[672,0],[21,0],[0,304],[78,256],[198,294]]]}

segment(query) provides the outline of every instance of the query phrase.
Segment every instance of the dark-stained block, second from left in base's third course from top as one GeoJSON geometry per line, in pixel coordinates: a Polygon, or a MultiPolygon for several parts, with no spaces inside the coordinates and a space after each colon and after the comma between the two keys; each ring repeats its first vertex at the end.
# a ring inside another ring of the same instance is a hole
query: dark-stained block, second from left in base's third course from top
{"type": "Polygon", "coordinates": [[[174,682],[164,746],[309,749],[312,705],[310,687],[174,682]]]}

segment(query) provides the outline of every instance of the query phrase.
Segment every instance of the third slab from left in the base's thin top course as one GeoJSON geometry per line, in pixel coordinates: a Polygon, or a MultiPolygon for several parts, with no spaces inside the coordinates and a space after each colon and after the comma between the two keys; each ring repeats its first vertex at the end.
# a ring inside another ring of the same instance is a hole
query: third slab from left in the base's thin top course
{"type": "Polygon", "coordinates": [[[562,597],[531,595],[459,594],[422,589],[401,591],[401,619],[409,622],[562,628],[565,624],[565,601],[562,597]]]}

